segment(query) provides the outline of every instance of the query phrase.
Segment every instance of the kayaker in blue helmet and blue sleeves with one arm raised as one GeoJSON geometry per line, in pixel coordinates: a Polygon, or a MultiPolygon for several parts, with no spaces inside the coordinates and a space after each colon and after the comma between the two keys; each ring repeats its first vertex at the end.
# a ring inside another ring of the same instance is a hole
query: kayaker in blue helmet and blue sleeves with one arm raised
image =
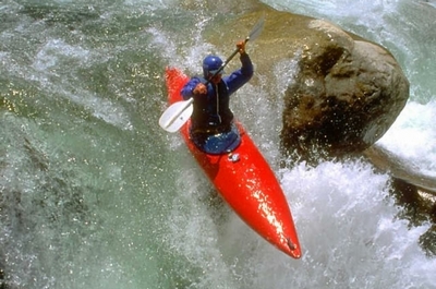
{"type": "Polygon", "coordinates": [[[222,70],[219,71],[222,60],[209,55],[203,60],[203,77],[192,77],[181,91],[183,99],[194,98],[190,133],[194,143],[206,153],[231,152],[240,141],[229,99],[251,80],[253,63],[245,51],[245,41],[239,41],[237,48],[242,64],[240,69],[222,76],[222,70]]]}

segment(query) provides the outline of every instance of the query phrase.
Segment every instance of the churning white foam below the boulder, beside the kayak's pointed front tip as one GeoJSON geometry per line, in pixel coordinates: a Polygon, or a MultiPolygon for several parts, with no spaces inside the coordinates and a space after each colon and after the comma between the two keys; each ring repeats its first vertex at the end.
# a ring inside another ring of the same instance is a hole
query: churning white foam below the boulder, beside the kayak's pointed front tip
{"type": "MultiPolygon", "coordinates": [[[[428,229],[409,229],[395,219],[397,208],[387,197],[389,178],[368,164],[304,164],[282,171],[282,185],[293,212],[303,257],[293,261],[263,244],[247,261],[246,288],[407,288],[423,280],[410,268],[432,276],[417,244],[428,229]],[[249,268],[250,266],[250,268],[249,268]]],[[[245,288],[245,287],[244,287],[245,288]]]]}

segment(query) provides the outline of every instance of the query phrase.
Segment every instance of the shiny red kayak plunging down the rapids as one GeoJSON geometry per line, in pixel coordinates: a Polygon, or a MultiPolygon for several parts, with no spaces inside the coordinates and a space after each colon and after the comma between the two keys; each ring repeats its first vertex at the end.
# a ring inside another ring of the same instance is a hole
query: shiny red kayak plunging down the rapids
{"type": "MultiPolygon", "coordinates": [[[[183,100],[180,91],[187,81],[180,70],[166,70],[170,104],[183,100]]],[[[300,258],[300,242],[283,191],[242,125],[235,127],[240,134],[237,147],[229,153],[208,154],[190,139],[189,123],[180,130],[183,140],[222,198],[265,240],[300,258]]]]}

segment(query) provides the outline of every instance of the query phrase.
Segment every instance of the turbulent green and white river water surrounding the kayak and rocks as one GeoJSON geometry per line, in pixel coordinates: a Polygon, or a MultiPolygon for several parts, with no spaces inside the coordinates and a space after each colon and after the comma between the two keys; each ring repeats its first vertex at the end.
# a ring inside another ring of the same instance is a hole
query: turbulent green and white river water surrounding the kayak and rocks
{"type": "MultiPolygon", "coordinates": [[[[435,1],[264,2],[392,52],[411,95],[378,144],[436,178],[435,1]]],[[[280,168],[262,87],[232,107],[277,172],[301,260],[251,231],[158,127],[164,68],[198,71],[216,50],[204,27],[235,16],[199,0],[0,1],[0,288],[436,288],[419,241],[432,225],[400,217],[388,174],[360,159],[280,168]]]]}

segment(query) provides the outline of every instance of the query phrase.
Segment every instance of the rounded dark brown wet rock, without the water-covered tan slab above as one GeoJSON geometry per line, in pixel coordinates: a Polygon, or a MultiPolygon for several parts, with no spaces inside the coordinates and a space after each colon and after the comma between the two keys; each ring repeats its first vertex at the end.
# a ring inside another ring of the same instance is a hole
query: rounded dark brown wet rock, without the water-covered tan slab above
{"type": "Polygon", "coordinates": [[[314,147],[332,156],[362,152],[385,134],[404,107],[408,82],[380,47],[323,40],[323,48],[303,53],[301,72],[286,92],[283,146],[296,146],[301,154],[314,147]]]}

